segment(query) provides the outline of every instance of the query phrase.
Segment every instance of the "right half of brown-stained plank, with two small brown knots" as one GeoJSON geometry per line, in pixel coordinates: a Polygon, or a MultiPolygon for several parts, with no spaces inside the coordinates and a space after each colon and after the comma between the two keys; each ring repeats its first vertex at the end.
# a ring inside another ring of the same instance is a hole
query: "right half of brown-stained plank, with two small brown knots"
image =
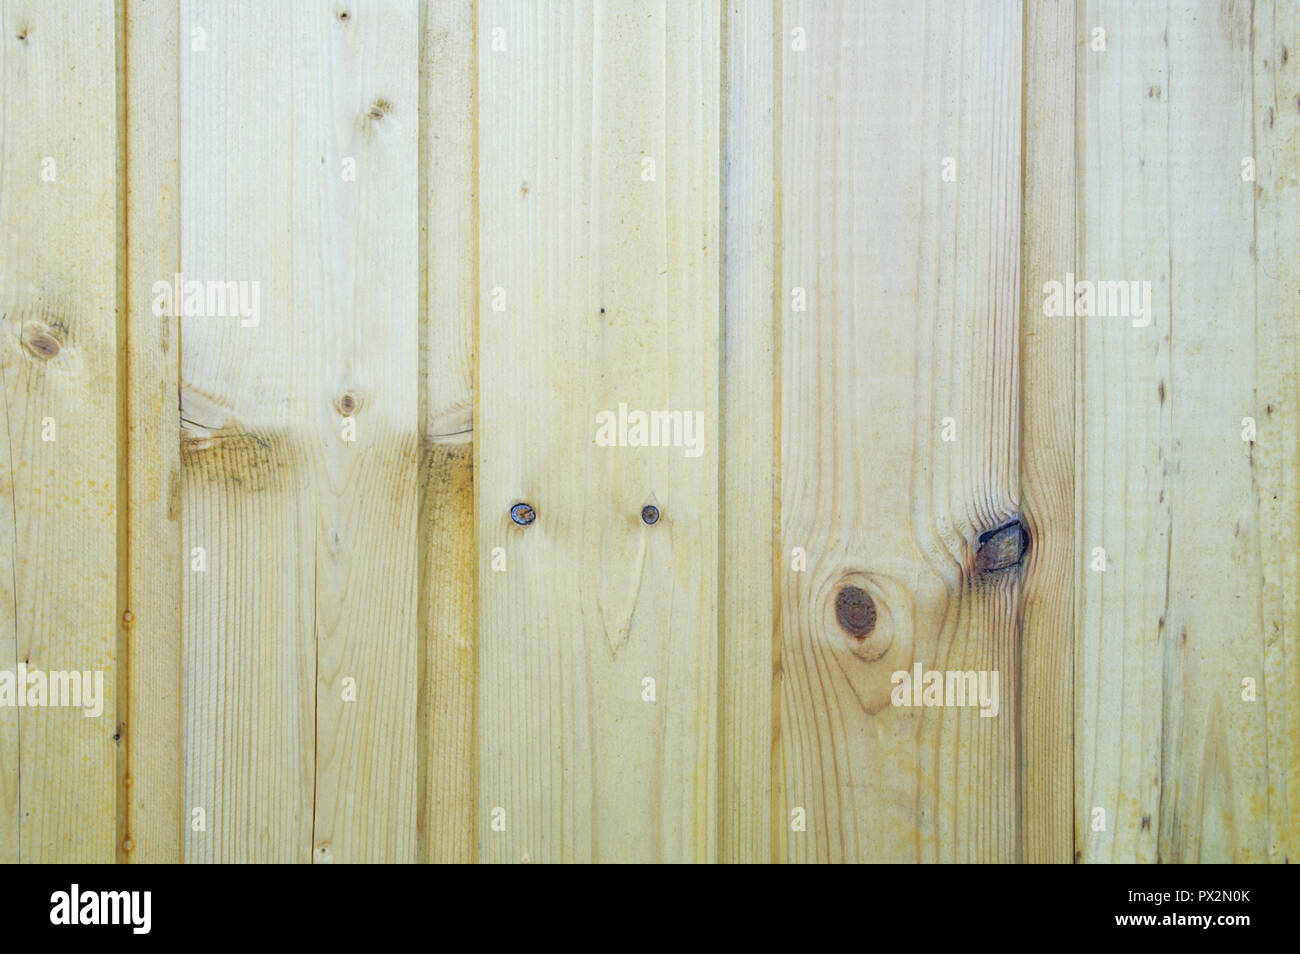
{"type": "Polygon", "coordinates": [[[413,862],[419,5],[300,3],[294,27],[295,308],[317,335],[303,424],[322,448],[313,860],[413,862]]]}

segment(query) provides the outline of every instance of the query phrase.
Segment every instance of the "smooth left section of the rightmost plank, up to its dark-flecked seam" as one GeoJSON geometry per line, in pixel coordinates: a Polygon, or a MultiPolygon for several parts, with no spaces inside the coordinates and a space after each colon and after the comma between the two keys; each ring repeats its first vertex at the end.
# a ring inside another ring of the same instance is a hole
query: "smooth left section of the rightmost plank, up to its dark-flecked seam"
{"type": "Polygon", "coordinates": [[[1173,520],[1169,14],[1091,1],[1078,12],[1076,277],[1149,281],[1154,313],[1144,329],[1124,317],[1075,320],[1075,850],[1083,862],[1154,862],[1164,656],[1173,625],[1166,612],[1173,520]],[[1105,30],[1105,51],[1093,49],[1095,30],[1105,30]],[[1104,829],[1093,831],[1095,824],[1104,829]]]}

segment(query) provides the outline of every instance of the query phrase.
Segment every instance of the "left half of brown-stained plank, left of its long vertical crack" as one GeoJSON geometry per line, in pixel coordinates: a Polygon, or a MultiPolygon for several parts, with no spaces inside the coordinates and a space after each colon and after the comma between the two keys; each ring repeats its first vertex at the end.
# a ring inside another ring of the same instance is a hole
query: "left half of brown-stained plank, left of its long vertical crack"
{"type": "Polygon", "coordinates": [[[182,272],[257,282],[260,311],[181,318],[185,807],[207,821],[185,857],[307,862],[316,316],[294,291],[291,8],[191,0],[181,35],[182,272]]]}

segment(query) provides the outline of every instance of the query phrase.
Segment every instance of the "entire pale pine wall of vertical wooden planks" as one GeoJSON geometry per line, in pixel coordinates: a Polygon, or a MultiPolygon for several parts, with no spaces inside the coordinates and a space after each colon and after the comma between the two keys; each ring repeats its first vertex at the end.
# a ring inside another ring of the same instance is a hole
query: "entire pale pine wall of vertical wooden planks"
{"type": "Polygon", "coordinates": [[[1297,48],[0,0],[0,860],[1291,860],[1297,48]]]}

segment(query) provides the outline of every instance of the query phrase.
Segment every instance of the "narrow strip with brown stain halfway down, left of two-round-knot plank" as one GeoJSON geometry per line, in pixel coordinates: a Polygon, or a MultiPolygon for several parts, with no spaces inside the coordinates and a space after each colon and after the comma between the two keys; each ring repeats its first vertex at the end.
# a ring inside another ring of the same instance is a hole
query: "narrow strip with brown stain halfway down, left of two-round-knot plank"
{"type": "Polygon", "coordinates": [[[420,858],[472,862],[478,855],[474,5],[425,0],[421,13],[421,300],[428,304],[421,316],[420,858]]]}

